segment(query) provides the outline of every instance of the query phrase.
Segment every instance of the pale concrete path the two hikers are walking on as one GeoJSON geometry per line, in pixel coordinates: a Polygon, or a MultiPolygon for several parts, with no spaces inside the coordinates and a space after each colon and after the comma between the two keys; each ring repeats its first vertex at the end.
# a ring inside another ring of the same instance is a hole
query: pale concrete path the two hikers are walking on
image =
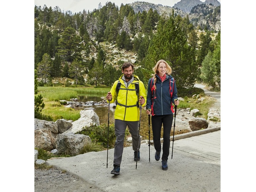
{"type": "MultiPolygon", "coordinates": [[[[60,170],[78,176],[100,190],[124,192],[213,192],[221,191],[220,130],[172,141],[168,170],[161,169],[161,160],[155,160],[154,146],[142,144],[141,160],[133,160],[132,147],[123,151],[120,175],[110,174],[114,149],[90,152],[75,157],[46,161],[60,170]]],[[[175,138],[175,137],[174,137],[175,138]]]]}

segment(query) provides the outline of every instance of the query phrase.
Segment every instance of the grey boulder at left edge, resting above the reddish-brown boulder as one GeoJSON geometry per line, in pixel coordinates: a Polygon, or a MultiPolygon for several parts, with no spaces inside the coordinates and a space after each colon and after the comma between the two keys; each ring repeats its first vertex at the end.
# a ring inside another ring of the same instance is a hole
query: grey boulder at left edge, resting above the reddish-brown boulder
{"type": "Polygon", "coordinates": [[[40,119],[34,119],[34,126],[36,129],[49,129],[54,138],[58,135],[58,125],[52,121],[45,121],[40,119]]]}

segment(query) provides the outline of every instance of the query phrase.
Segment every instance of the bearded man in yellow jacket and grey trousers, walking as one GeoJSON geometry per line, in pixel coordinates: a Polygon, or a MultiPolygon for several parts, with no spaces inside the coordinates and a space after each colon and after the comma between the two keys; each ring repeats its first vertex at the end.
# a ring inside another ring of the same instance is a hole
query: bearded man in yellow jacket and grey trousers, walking
{"type": "Polygon", "coordinates": [[[136,75],[133,75],[134,66],[132,63],[124,62],[122,65],[122,73],[119,80],[115,81],[110,92],[107,93],[106,99],[113,103],[117,99],[115,109],[115,149],[114,149],[114,169],[111,174],[120,174],[120,165],[123,155],[125,129],[128,126],[132,135],[132,149],[134,151],[134,160],[140,160],[140,136],[138,133],[140,109],[139,103],[144,106],[146,104],[146,90],[142,81],[136,75]],[[116,87],[121,83],[118,94],[116,87]],[[137,85],[136,85],[137,84],[137,85]],[[137,93],[136,89],[139,93],[137,93]],[[139,139],[139,140],[138,140],[139,139]]]}

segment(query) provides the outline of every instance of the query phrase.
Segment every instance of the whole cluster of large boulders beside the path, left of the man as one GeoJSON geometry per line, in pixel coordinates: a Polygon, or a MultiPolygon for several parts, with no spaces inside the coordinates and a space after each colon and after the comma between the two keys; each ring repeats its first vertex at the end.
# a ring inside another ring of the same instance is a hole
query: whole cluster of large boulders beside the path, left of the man
{"type": "Polygon", "coordinates": [[[91,142],[91,139],[89,136],[84,137],[85,135],[75,133],[85,126],[99,125],[99,117],[92,109],[80,111],[80,116],[74,122],[65,119],[58,119],[56,122],[34,119],[34,147],[46,151],[52,150],[52,153],[65,151],[78,155],[83,144],[91,142]],[[57,138],[58,141],[56,141],[57,138]],[[72,148],[73,144],[76,146],[72,148]],[[54,149],[57,151],[53,151],[54,149]]]}

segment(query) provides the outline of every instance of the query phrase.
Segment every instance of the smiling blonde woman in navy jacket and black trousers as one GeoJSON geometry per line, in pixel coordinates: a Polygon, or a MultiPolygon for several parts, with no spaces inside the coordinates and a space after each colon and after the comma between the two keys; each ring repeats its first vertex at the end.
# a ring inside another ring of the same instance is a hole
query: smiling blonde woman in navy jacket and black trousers
{"type": "Polygon", "coordinates": [[[173,120],[173,103],[179,104],[177,89],[171,74],[171,67],[164,60],[159,60],[153,68],[153,78],[148,83],[147,113],[152,114],[153,141],[156,150],[155,159],[160,160],[161,127],[163,125],[162,170],[167,170],[170,149],[170,133],[173,120]]]}

